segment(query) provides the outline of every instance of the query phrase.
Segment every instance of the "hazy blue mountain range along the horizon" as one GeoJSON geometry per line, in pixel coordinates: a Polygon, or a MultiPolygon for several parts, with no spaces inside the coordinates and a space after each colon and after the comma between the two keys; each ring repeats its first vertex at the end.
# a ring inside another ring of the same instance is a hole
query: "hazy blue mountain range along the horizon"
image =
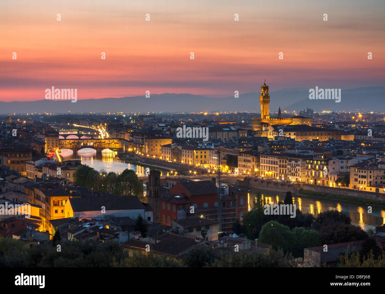
{"type": "MultiPolygon", "coordinates": [[[[151,94],[143,96],[70,100],[0,101],[0,114],[8,113],[105,113],[105,112],[260,112],[257,92],[216,98],[193,94],[151,94]]],[[[341,102],[310,100],[309,89],[295,88],[269,92],[271,112],[292,112],[309,107],[316,112],[329,111],[385,111],[385,87],[360,87],[341,90],[341,102]]]]}

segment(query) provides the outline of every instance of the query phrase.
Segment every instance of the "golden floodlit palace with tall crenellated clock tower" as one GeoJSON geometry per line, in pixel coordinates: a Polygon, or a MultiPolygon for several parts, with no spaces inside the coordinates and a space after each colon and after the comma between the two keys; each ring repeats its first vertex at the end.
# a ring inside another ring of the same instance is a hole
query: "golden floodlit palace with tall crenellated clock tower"
{"type": "Polygon", "coordinates": [[[259,103],[261,104],[261,118],[253,119],[253,130],[263,131],[268,125],[308,125],[311,127],[311,117],[285,117],[281,116],[281,109],[278,112],[277,118],[270,118],[269,115],[269,86],[266,85],[266,80],[261,86],[261,96],[259,96],[259,103]]]}

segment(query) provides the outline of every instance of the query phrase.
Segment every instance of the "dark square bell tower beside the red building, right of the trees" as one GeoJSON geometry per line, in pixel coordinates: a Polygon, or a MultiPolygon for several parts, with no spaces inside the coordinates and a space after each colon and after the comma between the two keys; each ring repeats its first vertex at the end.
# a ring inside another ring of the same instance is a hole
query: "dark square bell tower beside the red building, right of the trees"
{"type": "Polygon", "coordinates": [[[152,207],[154,224],[161,223],[161,172],[156,169],[150,170],[148,175],[148,204],[152,207]]]}

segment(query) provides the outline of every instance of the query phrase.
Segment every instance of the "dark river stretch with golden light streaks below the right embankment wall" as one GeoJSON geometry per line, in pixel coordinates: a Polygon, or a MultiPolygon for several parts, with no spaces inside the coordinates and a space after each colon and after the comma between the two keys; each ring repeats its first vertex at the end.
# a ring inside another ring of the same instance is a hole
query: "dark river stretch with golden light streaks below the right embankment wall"
{"type": "MultiPolygon", "coordinates": [[[[256,197],[258,192],[263,194],[264,204],[277,204],[285,199],[286,193],[274,192],[271,190],[250,189],[250,202],[256,197]]],[[[372,206],[372,213],[368,213],[368,205],[347,202],[343,200],[330,200],[310,196],[300,196],[293,194],[293,204],[303,213],[316,215],[322,211],[338,210],[347,213],[352,219],[352,224],[360,226],[363,230],[382,226],[385,224],[385,208],[372,206]]],[[[251,204],[253,205],[253,204],[251,204]]]]}

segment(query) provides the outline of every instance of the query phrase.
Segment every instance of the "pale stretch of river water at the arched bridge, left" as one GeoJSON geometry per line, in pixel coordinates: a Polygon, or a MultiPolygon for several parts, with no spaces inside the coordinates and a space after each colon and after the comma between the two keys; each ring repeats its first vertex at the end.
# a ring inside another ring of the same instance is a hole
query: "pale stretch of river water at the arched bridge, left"
{"type": "Polygon", "coordinates": [[[64,160],[80,159],[82,164],[87,164],[95,170],[104,169],[107,172],[122,172],[125,169],[132,169],[137,172],[138,176],[143,176],[146,173],[146,168],[136,164],[129,164],[124,160],[117,159],[116,152],[103,151],[102,154],[96,154],[94,149],[81,149],[77,155],[74,155],[72,150],[62,149],[60,153],[64,160]]]}

